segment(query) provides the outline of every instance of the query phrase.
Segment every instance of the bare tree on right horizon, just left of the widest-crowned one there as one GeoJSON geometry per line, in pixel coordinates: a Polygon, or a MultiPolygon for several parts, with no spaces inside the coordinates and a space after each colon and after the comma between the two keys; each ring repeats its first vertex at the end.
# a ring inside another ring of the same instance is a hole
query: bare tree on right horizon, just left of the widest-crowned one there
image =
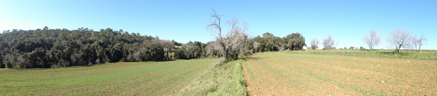
{"type": "Polygon", "coordinates": [[[378,35],[377,33],[378,32],[375,30],[370,30],[369,34],[366,34],[363,38],[361,38],[369,46],[370,51],[372,51],[375,46],[381,44],[382,35],[378,35]]]}

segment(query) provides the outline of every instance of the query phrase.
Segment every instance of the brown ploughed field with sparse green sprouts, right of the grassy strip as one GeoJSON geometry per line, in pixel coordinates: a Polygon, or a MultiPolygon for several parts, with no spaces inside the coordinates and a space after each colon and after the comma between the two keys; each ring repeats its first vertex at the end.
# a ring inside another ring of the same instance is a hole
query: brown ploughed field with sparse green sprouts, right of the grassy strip
{"type": "Polygon", "coordinates": [[[250,96],[436,96],[437,61],[260,53],[243,63],[250,96]]]}

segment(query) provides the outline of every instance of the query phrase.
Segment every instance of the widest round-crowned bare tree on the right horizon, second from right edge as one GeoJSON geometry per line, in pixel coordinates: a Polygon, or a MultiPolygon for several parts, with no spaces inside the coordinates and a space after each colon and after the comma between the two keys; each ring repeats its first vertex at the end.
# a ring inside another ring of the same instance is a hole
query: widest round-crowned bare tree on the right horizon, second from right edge
{"type": "Polygon", "coordinates": [[[386,41],[388,43],[387,48],[393,48],[395,53],[399,53],[400,48],[408,47],[413,43],[414,37],[409,30],[396,28],[388,32],[386,41]]]}

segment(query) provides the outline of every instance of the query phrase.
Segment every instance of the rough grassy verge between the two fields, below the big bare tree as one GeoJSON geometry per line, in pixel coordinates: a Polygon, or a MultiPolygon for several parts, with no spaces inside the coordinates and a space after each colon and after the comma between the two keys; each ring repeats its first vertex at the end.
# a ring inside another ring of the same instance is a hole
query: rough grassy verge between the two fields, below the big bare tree
{"type": "Polygon", "coordinates": [[[191,84],[180,90],[179,96],[246,96],[246,82],[241,72],[241,59],[211,67],[191,84]]]}

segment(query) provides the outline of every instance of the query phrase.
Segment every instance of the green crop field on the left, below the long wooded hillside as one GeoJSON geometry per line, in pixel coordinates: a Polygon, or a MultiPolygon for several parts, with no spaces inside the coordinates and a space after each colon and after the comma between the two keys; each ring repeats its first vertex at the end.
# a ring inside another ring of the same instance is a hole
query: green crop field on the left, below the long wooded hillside
{"type": "Polygon", "coordinates": [[[0,95],[169,96],[218,59],[120,62],[62,69],[0,69],[0,95]]]}

